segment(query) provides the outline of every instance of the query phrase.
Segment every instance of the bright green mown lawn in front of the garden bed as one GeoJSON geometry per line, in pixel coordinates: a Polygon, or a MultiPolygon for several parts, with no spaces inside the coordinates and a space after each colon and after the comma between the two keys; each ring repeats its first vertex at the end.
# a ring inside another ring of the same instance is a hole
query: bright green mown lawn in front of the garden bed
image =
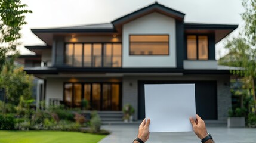
{"type": "Polygon", "coordinates": [[[96,143],[106,135],[58,131],[0,131],[1,143],[96,143]]]}

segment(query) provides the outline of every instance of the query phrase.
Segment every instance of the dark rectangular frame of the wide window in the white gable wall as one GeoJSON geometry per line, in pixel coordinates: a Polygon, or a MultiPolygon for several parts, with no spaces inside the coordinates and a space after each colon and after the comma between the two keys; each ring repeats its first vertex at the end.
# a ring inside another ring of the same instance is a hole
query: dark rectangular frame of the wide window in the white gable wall
{"type": "Polygon", "coordinates": [[[169,39],[169,34],[129,34],[129,55],[130,56],[159,56],[159,55],[164,55],[164,56],[169,56],[169,51],[170,51],[170,49],[169,49],[169,41],[170,41],[170,39],[169,39]],[[141,54],[138,54],[138,55],[135,55],[135,54],[131,54],[131,36],[134,36],[134,35],[140,35],[140,36],[168,36],[168,53],[167,54],[152,54],[152,55],[141,55],[141,54]]]}

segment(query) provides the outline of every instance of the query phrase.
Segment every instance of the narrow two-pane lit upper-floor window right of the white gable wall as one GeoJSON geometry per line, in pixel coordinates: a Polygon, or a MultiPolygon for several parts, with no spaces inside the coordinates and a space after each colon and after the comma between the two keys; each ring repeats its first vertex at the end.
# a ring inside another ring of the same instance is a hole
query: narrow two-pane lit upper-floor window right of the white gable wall
{"type": "Polygon", "coordinates": [[[187,36],[187,59],[208,60],[208,36],[187,36]]]}

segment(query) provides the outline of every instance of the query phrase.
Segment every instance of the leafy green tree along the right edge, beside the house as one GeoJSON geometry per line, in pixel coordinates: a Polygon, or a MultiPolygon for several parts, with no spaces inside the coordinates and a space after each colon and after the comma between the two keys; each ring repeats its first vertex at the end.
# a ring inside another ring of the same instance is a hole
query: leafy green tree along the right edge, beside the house
{"type": "Polygon", "coordinates": [[[243,76],[250,81],[251,92],[256,104],[256,0],[243,0],[245,12],[242,19],[245,21],[243,32],[238,37],[227,40],[226,49],[229,49],[229,60],[220,60],[220,64],[242,67],[232,70],[233,74],[243,76]]]}

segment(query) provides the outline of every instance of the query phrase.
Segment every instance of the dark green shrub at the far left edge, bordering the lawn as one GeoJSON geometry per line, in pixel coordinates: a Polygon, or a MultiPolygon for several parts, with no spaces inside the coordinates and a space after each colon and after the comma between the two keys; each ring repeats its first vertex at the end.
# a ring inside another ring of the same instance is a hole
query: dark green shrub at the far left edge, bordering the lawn
{"type": "Polygon", "coordinates": [[[0,114],[0,130],[14,130],[14,117],[10,114],[3,116],[0,114]]]}

